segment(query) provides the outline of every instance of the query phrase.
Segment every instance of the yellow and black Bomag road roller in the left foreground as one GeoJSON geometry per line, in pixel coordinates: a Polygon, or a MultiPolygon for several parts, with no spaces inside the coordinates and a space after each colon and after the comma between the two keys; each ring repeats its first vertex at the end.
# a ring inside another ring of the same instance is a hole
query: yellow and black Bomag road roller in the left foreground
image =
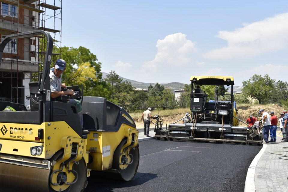
{"type": "Polygon", "coordinates": [[[105,98],[83,97],[78,86],[69,98],[51,98],[53,44],[48,33],[8,35],[0,44],[0,61],[9,41],[35,36],[44,36],[47,46],[43,73],[38,82],[29,83],[30,110],[0,101],[0,191],[81,192],[94,170],[118,173],[130,181],[139,165],[135,122],[105,98]],[[69,99],[81,101],[83,128],[89,133],[83,134],[78,110],[69,99]]]}

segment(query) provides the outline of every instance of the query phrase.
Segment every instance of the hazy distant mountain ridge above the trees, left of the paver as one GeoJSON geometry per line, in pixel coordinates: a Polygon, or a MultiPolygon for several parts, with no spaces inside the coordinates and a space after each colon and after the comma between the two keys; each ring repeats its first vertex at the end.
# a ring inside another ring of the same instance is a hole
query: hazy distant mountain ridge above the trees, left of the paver
{"type": "MultiPolygon", "coordinates": [[[[105,79],[106,76],[109,74],[109,73],[104,73],[102,72],[102,79],[105,79]]],[[[150,85],[150,83],[143,83],[143,82],[139,82],[139,81],[134,81],[134,80],[131,80],[131,79],[126,79],[124,77],[121,77],[119,76],[121,79],[123,79],[123,81],[130,81],[131,84],[134,86],[134,87],[137,87],[137,88],[143,88],[143,89],[148,89],[148,86],[150,85]]],[[[156,83],[151,83],[153,86],[156,84],[156,83]]],[[[165,88],[170,88],[172,90],[178,90],[178,89],[182,89],[184,88],[184,83],[179,83],[179,82],[171,82],[171,83],[160,83],[160,85],[163,85],[165,88]]]]}

